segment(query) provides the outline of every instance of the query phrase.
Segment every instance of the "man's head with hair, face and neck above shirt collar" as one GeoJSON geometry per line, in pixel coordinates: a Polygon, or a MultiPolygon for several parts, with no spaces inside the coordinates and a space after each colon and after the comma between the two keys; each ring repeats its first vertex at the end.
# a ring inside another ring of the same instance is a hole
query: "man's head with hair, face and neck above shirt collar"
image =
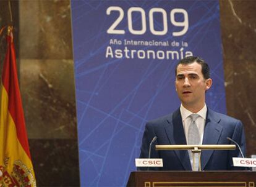
{"type": "Polygon", "coordinates": [[[205,92],[210,89],[210,69],[198,57],[182,59],[176,66],[176,91],[182,105],[196,113],[203,108],[205,92]]]}

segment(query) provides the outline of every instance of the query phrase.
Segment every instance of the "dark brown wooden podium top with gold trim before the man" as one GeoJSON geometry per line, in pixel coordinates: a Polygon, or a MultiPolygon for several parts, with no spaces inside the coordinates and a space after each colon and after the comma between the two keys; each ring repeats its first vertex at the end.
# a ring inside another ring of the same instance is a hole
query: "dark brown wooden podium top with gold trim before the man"
{"type": "Polygon", "coordinates": [[[127,186],[137,187],[256,187],[252,171],[138,171],[131,172],[127,186]]]}

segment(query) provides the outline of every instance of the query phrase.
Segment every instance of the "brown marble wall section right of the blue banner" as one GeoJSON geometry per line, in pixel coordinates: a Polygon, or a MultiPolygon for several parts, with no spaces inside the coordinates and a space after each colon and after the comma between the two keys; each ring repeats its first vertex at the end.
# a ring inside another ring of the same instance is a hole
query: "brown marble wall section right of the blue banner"
{"type": "Polygon", "coordinates": [[[256,1],[220,1],[226,104],[245,127],[247,156],[256,154],[256,1]]]}

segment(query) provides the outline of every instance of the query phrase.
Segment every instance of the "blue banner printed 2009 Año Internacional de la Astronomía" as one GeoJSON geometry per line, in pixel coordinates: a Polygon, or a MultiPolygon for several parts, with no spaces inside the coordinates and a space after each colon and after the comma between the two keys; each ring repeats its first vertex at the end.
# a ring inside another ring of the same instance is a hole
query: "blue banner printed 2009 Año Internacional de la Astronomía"
{"type": "Polygon", "coordinates": [[[146,121],[180,105],[176,63],[209,63],[226,113],[218,1],[71,1],[81,186],[125,186],[146,121]]]}

